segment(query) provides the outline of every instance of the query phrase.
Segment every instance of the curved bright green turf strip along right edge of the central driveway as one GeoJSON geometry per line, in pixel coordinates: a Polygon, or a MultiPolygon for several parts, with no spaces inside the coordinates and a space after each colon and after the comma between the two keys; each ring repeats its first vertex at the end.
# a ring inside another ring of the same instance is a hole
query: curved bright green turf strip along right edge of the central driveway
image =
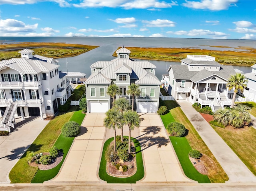
{"type": "Polygon", "coordinates": [[[169,137],[174,150],[179,158],[180,164],[184,173],[187,177],[192,180],[198,181],[198,183],[211,183],[210,179],[207,175],[200,174],[191,163],[190,159],[188,158],[188,153],[192,149],[186,140],[186,137],[169,137]]]}

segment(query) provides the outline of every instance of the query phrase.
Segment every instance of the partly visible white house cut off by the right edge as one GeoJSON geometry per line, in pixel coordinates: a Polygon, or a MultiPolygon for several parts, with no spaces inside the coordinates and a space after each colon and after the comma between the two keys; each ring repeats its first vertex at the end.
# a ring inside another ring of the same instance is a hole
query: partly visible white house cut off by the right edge
{"type": "Polygon", "coordinates": [[[248,79],[248,83],[243,94],[250,101],[256,102],[256,64],[251,67],[252,72],[244,74],[248,79]]]}

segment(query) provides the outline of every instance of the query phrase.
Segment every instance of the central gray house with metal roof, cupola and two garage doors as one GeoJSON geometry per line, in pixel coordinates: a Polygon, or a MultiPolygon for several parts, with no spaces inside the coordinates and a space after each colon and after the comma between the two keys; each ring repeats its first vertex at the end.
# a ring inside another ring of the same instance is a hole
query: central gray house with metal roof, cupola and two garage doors
{"type": "Polygon", "coordinates": [[[148,61],[134,61],[129,58],[130,50],[122,47],[116,51],[117,58],[98,61],[90,66],[92,75],[86,80],[88,112],[106,112],[112,106],[112,99],[106,94],[111,84],[118,85],[120,95],[132,102],[126,91],[131,83],[140,85],[140,96],[135,98],[137,112],[155,113],[158,110],[160,81],[155,76],[156,66],[148,61]]]}

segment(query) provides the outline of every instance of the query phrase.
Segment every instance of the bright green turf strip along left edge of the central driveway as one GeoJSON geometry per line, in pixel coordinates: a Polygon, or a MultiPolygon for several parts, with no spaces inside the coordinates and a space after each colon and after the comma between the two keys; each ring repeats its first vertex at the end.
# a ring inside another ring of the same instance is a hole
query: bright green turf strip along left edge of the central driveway
{"type": "MultiPolygon", "coordinates": [[[[74,114],[70,118],[70,121],[75,121],[79,125],[81,125],[84,120],[84,116],[85,116],[85,114],[82,113],[82,110],[78,110],[78,111],[74,112],[74,114]]],[[[74,137],[65,137],[62,134],[60,134],[60,136],[57,139],[57,141],[55,142],[54,146],[56,146],[58,149],[60,149],[62,151],[62,153],[63,153],[62,161],[53,169],[49,169],[49,170],[38,169],[38,171],[36,172],[36,175],[34,176],[34,178],[31,181],[31,183],[43,183],[44,181],[54,178],[58,174],[60,167],[61,167],[62,163],[64,162],[64,159],[66,158],[68,151],[72,145],[73,140],[74,140],[74,137]]]]}

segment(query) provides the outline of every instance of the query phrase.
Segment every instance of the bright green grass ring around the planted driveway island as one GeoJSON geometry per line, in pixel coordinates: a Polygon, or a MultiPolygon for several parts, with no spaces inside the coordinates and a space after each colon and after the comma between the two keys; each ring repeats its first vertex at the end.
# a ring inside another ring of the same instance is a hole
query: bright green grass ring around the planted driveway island
{"type": "Polygon", "coordinates": [[[114,137],[106,140],[104,147],[103,147],[103,153],[100,161],[100,169],[99,169],[99,176],[102,180],[107,181],[107,183],[136,183],[136,181],[142,179],[144,177],[144,167],[143,167],[143,161],[142,161],[142,153],[140,148],[140,143],[138,140],[132,138],[134,142],[134,146],[136,149],[136,164],[137,164],[137,172],[132,175],[131,177],[127,178],[117,178],[112,177],[106,173],[106,159],[104,157],[104,151],[108,147],[108,145],[114,140],[114,137]]]}

